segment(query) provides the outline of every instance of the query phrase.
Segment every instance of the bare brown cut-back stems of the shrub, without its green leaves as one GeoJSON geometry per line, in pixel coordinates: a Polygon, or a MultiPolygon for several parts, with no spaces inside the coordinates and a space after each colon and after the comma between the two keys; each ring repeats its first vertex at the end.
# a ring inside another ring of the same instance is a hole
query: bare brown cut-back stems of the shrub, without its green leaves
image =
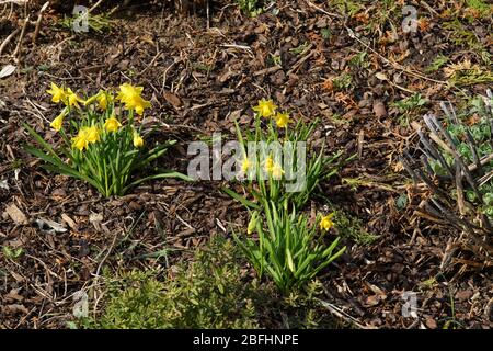
{"type": "MultiPolygon", "coordinates": [[[[484,99],[484,102],[491,131],[489,141],[493,147],[493,106],[491,103],[493,95],[490,90],[486,95],[488,99],[484,99]]],[[[446,123],[461,124],[450,103],[442,102],[440,107],[446,115],[446,123]]],[[[447,124],[432,114],[427,114],[423,118],[426,128],[423,128],[420,123],[413,123],[413,128],[420,137],[417,151],[421,156],[412,157],[409,150],[405,150],[401,162],[413,178],[415,185],[424,185],[429,190],[428,194],[431,195],[421,205],[426,217],[447,223],[460,233],[457,237],[449,239],[440,268],[445,270],[451,263],[461,263],[463,268],[475,269],[492,267],[492,219],[480,211],[480,206],[467,200],[465,189],[472,191],[475,195],[474,199],[481,205],[484,204],[479,189],[493,179],[493,170],[485,169],[485,166],[492,162],[493,154],[480,158],[478,144],[470,131],[465,128],[465,141],[473,157],[473,162],[470,163],[460,156],[456,141],[446,128],[447,124]],[[451,165],[444,158],[444,152],[454,157],[451,165]],[[445,170],[445,174],[436,174],[431,161],[438,162],[445,170]],[[473,258],[463,259],[456,256],[456,252],[465,251],[472,252],[473,258]]]]}

